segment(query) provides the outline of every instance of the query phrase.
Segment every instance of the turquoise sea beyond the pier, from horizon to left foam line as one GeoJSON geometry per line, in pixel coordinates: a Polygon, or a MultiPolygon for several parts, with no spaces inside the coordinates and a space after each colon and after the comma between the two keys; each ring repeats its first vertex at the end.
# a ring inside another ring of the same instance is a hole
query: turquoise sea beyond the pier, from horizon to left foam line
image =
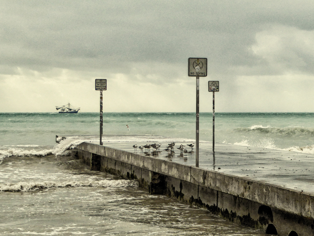
{"type": "MultiPolygon", "coordinates": [[[[211,142],[213,114],[199,119],[200,140],[211,142]]],[[[215,142],[313,153],[313,120],[314,113],[216,113],[215,142]]],[[[57,134],[99,135],[99,113],[0,113],[0,132],[2,146],[51,148],[57,134]]],[[[195,139],[195,113],[104,113],[103,133],[195,139]]]]}

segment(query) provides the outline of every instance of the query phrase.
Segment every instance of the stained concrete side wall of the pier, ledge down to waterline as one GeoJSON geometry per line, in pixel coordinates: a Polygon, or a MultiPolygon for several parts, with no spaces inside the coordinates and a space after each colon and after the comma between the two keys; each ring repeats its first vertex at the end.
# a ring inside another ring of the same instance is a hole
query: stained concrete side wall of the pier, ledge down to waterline
{"type": "Polygon", "coordinates": [[[137,179],[165,194],[269,234],[314,235],[314,197],[250,179],[186,166],[92,143],[73,150],[91,169],[137,179]]]}

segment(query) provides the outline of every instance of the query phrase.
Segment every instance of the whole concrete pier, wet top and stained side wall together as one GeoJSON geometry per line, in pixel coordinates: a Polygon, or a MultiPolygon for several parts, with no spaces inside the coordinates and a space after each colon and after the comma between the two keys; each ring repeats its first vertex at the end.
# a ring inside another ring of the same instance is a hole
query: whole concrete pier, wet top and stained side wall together
{"type": "MultiPolygon", "coordinates": [[[[135,138],[143,145],[161,141],[160,149],[171,142],[135,138]]],[[[215,144],[213,153],[212,143],[204,142],[198,168],[191,148],[186,147],[187,155],[180,150],[153,155],[119,140],[104,146],[87,140],[73,149],[73,158],[84,160],[91,170],[137,179],[150,194],[174,197],[268,234],[314,235],[313,155],[229,144],[215,144]]],[[[181,143],[188,142],[177,141],[181,143]]]]}

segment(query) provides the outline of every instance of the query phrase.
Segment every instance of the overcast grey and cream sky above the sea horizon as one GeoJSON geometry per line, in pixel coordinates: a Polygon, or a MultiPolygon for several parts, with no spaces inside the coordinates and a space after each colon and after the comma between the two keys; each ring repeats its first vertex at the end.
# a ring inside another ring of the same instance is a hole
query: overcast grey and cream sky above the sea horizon
{"type": "Polygon", "coordinates": [[[307,0],[2,0],[0,112],[314,112],[307,0]]]}

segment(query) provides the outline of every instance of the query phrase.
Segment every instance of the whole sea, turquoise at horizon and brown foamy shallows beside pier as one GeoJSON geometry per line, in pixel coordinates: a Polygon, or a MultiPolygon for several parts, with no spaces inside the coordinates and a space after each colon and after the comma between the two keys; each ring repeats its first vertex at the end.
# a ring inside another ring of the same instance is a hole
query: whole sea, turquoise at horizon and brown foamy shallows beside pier
{"type": "MultiPolygon", "coordinates": [[[[313,153],[313,118],[216,113],[215,142],[313,153]]],[[[200,140],[212,141],[212,124],[200,114],[200,140]]],[[[104,113],[103,130],[195,139],[195,114],[104,113]]],[[[265,235],[89,171],[56,135],[99,135],[99,113],[0,113],[0,235],[265,235]]]]}

